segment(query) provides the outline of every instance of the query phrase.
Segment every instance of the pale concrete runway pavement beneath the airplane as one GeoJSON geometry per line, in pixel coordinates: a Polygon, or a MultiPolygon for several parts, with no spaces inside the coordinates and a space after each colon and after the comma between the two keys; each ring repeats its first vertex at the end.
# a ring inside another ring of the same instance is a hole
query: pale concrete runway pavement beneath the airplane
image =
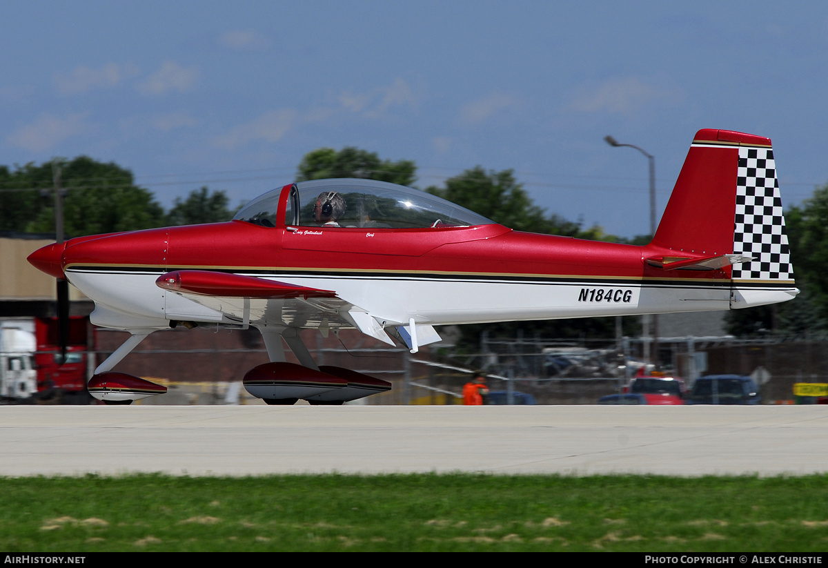
{"type": "Polygon", "coordinates": [[[0,475],[811,474],[828,407],[0,407],[0,475]]]}

